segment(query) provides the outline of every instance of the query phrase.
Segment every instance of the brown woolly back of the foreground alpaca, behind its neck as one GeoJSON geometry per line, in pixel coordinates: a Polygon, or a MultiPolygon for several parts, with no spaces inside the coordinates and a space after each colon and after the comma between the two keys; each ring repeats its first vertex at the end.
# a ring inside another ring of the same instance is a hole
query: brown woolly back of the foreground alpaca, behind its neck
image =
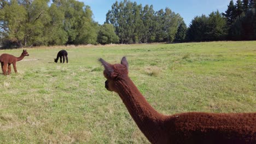
{"type": "Polygon", "coordinates": [[[166,125],[174,143],[256,143],[256,113],[188,112],[170,116],[166,125]]]}

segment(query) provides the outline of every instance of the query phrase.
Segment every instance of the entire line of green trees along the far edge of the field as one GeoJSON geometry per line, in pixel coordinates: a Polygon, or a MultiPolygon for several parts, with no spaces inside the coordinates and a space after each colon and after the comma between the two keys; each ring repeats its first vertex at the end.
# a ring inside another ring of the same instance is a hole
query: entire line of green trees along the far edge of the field
{"type": "Polygon", "coordinates": [[[256,40],[256,0],[230,1],[225,13],[195,16],[189,26],[170,8],[115,2],[99,25],[89,5],[75,0],[0,1],[5,47],[79,44],[256,40]]]}

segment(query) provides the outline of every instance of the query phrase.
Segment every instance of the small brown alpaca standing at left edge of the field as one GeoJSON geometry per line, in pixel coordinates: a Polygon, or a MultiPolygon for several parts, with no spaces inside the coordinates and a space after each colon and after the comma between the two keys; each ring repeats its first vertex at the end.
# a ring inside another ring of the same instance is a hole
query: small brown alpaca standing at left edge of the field
{"type": "Polygon", "coordinates": [[[7,74],[7,71],[6,71],[7,65],[8,65],[8,75],[10,74],[10,71],[11,71],[10,64],[13,64],[13,69],[14,69],[15,73],[17,73],[16,62],[21,61],[21,59],[23,59],[25,56],[29,56],[27,53],[27,50],[23,50],[20,57],[15,57],[13,55],[3,53],[0,56],[0,62],[1,62],[2,70],[3,70],[3,74],[4,75],[7,74]]]}

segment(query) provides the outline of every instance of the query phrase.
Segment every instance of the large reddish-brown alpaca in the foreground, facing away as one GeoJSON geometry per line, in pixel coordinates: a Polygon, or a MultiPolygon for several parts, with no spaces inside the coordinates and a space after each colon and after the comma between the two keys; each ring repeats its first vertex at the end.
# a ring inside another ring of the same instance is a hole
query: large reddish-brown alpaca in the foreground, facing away
{"type": "Polygon", "coordinates": [[[109,64],[102,58],[108,91],[119,94],[138,128],[151,143],[256,143],[256,113],[187,112],[162,115],[128,76],[126,58],[109,64]]]}

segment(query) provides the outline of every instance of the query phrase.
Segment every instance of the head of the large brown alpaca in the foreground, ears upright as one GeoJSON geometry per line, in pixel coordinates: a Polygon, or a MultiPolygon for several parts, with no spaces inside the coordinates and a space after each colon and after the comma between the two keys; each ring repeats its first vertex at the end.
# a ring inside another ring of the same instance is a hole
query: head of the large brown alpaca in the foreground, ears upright
{"type": "Polygon", "coordinates": [[[107,79],[105,82],[106,89],[108,89],[108,91],[117,92],[115,82],[128,76],[128,62],[126,61],[126,58],[123,57],[121,59],[121,64],[109,64],[102,58],[100,58],[99,61],[105,68],[103,74],[107,79]]]}

